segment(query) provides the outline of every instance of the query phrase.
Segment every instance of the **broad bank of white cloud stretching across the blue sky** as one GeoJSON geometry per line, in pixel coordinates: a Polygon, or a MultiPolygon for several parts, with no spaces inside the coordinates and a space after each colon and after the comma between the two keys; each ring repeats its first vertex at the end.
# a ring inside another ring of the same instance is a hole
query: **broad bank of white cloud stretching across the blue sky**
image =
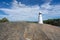
{"type": "Polygon", "coordinates": [[[38,20],[38,13],[41,12],[43,14],[60,14],[60,5],[50,5],[50,2],[44,3],[41,6],[27,6],[22,4],[21,2],[17,2],[14,0],[12,2],[11,9],[0,8],[0,10],[4,11],[7,15],[6,17],[10,20],[30,20],[35,21],[38,20]]]}

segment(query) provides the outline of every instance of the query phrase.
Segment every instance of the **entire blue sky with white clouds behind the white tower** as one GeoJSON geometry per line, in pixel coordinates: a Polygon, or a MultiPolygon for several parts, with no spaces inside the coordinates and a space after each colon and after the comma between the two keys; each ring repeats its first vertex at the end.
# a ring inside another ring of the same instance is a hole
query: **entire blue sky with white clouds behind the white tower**
{"type": "Polygon", "coordinates": [[[0,18],[38,21],[39,12],[43,20],[60,18],[60,0],[0,0],[0,18]]]}

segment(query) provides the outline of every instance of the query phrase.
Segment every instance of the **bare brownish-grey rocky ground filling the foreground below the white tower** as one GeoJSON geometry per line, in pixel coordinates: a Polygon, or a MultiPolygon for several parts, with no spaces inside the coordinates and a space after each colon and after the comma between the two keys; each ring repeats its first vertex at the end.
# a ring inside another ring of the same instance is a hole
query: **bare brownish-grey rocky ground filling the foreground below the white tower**
{"type": "Polygon", "coordinates": [[[0,23],[0,40],[60,40],[60,28],[26,22],[0,23]]]}

